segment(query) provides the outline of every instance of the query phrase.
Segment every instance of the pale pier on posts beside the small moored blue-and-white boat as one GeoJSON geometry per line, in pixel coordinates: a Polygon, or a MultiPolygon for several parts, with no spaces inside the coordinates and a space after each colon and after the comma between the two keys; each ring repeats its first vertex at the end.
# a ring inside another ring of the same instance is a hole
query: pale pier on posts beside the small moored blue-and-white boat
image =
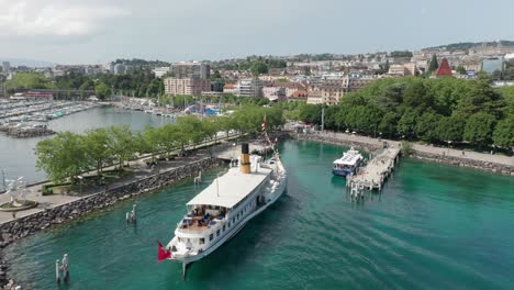
{"type": "Polygon", "coordinates": [[[400,148],[398,147],[382,148],[372,154],[365,167],[360,168],[356,175],[347,177],[346,186],[351,197],[359,198],[365,191],[382,190],[383,183],[394,170],[399,158],[400,148]]]}

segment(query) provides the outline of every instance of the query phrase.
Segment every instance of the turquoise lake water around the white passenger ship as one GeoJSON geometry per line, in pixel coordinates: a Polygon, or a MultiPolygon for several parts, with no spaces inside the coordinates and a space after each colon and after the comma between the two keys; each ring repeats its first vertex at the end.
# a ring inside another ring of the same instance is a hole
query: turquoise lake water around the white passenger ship
{"type": "Polygon", "coordinates": [[[157,264],[156,239],[201,190],[191,180],[137,199],[137,227],[124,223],[130,201],[10,246],[11,275],[24,289],[512,289],[514,179],[404,159],[382,194],[356,204],[331,175],[342,148],[281,150],[288,193],[187,281],[179,264],[157,264]],[[64,253],[71,282],[59,288],[64,253]]]}

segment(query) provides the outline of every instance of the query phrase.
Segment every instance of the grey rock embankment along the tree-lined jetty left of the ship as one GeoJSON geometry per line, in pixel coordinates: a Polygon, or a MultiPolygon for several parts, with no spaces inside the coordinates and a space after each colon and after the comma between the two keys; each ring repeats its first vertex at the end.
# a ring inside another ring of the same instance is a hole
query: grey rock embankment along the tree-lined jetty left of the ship
{"type": "MultiPolygon", "coordinates": [[[[214,168],[222,164],[221,159],[205,158],[3,223],[0,225],[0,248],[41,230],[70,222],[91,212],[113,205],[119,201],[160,189],[188,177],[197,176],[200,170],[214,168]]],[[[0,287],[8,283],[5,269],[7,264],[0,253],[0,287]]]]}

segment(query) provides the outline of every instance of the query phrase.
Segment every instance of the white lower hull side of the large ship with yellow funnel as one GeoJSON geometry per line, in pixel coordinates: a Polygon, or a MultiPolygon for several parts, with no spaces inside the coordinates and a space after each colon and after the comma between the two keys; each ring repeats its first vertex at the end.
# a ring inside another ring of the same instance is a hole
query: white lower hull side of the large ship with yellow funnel
{"type": "MultiPolygon", "coordinates": [[[[286,187],[287,187],[287,182],[288,182],[287,180],[288,180],[287,177],[281,179],[280,183],[279,183],[279,187],[277,189],[277,192],[272,194],[270,200],[268,200],[261,207],[257,208],[253,213],[250,213],[244,220],[242,220],[239,223],[237,223],[237,225],[234,226],[226,235],[224,235],[222,238],[220,238],[220,241],[217,241],[215,244],[213,244],[212,246],[206,248],[204,252],[195,254],[195,255],[183,255],[183,256],[174,255],[171,257],[171,260],[177,260],[177,261],[180,261],[180,263],[183,263],[183,264],[187,265],[187,264],[200,260],[200,259],[206,257],[208,255],[210,255],[211,253],[213,253],[214,250],[216,250],[219,247],[221,247],[223,244],[225,244],[228,239],[231,239],[237,233],[239,233],[252,219],[254,219],[259,213],[261,213],[266,209],[268,209],[271,204],[273,204],[286,191],[286,187]]],[[[171,239],[171,242],[168,244],[167,248],[171,248],[176,243],[177,243],[177,237],[174,237],[174,239],[171,239]]]]}

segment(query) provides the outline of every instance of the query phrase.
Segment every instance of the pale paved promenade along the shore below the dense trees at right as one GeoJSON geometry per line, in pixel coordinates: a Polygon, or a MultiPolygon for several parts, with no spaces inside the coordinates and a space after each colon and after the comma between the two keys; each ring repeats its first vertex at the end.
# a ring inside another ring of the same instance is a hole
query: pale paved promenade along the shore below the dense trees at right
{"type": "MultiPolygon", "coordinates": [[[[358,135],[346,134],[346,133],[334,133],[334,132],[326,132],[326,133],[320,133],[320,134],[324,136],[347,140],[350,142],[355,141],[355,142],[361,142],[361,143],[367,143],[367,144],[377,145],[377,146],[382,145],[378,141],[378,138],[371,138],[371,137],[366,137],[366,136],[358,136],[358,135]]],[[[382,141],[386,141],[390,144],[394,144],[396,146],[400,146],[401,144],[401,142],[399,141],[390,141],[390,140],[382,140],[382,141]]],[[[504,155],[491,155],[491,154],[469,152],[469,150],[466,150],[462,154],[462,150],[458,150],[458,149],[434,147],[434,146],[422,145],[417,143],[413,144],[413,148],[421,153],[446,155],[446,156],[451,156],[451,157],[466,158],[470,160],[479,160],[479,161],[485,161],[485,163],[495,163],[495,164],[507,165],[507,166],[514,167],[514,157],[509,157],[504,155]]]]}

